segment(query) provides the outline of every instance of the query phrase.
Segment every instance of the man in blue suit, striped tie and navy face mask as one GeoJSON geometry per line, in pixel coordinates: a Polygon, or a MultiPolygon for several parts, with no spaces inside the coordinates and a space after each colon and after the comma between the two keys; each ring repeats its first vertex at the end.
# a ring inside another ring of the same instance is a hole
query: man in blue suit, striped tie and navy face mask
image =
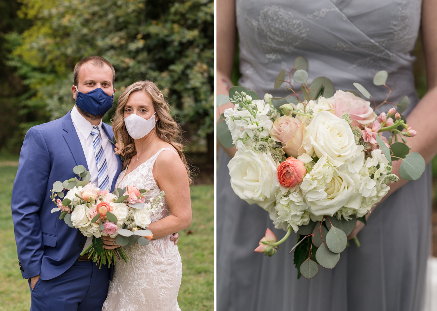
{"type": "Polygon", "coordinates": [[[74,166],[85,166],[91,183],[110,191],[122,167],[111,126],[102,122],[113,104],[114,67],[90,56],[76,64],[73,76],[76,105],[60,119],[28,130],[12,190],[15,240],[21,274],[29,279],[31,311],[100,311],[111,278],[112,268],[98,269],[80,257],[87,238],[50,212],[53,183],[75,177],[74,166]]]}

